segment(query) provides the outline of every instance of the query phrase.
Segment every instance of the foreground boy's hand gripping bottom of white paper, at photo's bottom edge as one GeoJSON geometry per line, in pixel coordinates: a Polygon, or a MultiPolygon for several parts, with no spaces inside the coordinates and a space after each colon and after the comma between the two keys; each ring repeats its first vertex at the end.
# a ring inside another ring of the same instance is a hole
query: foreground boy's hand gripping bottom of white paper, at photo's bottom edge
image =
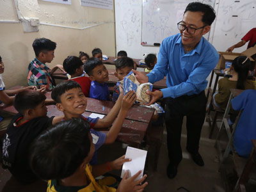
{"type": "Polygon", "coordinates": [[[141,171],[136,173],[130,178],[127,178],[128,176],[128,171],[125,172],[123,179],[121,180],[117,191],[116,192],[141,192],[143,189],[147,186],[148,182],[145,182],[144,184],[140,185],[143,180],[146,179],[147,175],[144,175],[141,179],[135,180],[139,175],[141,171]]]}

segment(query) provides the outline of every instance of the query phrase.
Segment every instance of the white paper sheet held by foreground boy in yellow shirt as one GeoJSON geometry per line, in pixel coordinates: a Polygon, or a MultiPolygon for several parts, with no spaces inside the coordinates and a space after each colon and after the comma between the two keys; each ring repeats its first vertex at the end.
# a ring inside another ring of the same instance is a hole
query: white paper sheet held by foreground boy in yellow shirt
{"type": "Polygon", "coordinates": [[[132,161],[129,161],[129,162],[126,162],[123,164],[121,178],[124,177],[124,173],[127,170],[129,171],[128,177],[132,177],[132,175],[135,175],[137,172],[142,170],[140,175],[135,180],[141,179],[141,177],[143,177],[146,157],[147,157],[147,150],[141,150],[139,148],[127,147],[127,150],[125,153],[125,158],[130,158],[130,159],[132,159],[132,161]]]}

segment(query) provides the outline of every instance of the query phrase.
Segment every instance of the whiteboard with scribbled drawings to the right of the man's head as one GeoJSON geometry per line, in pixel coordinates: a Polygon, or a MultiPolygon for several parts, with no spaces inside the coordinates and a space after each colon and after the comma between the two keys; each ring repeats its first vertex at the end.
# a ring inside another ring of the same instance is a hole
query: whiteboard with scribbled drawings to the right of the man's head
{"type": "MultiPolygon", "coordinates": [[[[218,51],[226,51],[228,47],[241,41],[250,29],[256,27],[256,1],[220,1],[218,15],[212,37],[212,45],[218,51]]],[[[233,52],[242,52],[247,44],[233,52]]]]}

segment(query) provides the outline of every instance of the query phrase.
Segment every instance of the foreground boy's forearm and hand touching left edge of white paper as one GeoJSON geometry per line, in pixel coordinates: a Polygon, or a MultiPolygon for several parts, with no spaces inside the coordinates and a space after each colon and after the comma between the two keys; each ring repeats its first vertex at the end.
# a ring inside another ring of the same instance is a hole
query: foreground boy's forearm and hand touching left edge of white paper
{"type": "Polygon", "coordinates": [[[111,170],[120,170],[122,168],[122,165],[125,162],[131,161],[131,159],[125,159],[124,157],[125,155],[122,157],[119,157],[118,159],[115,159],[114,161],[109,161],[108,163],[93,165],[92,166],[93,177],[98,177],[111,170]]]}

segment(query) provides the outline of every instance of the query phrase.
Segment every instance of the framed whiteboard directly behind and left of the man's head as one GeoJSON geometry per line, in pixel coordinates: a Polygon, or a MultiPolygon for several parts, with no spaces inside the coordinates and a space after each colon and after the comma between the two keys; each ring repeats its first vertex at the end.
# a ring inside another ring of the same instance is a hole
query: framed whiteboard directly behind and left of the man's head
{"type": "MultiPolygon", "coordinates": [[[[179,33],[177,22],[182,20],[191,0],[143,0],[141,42],[160,44],[164,38],[179,33]]],[[[214,8],[215,0],[200,1],[214,8]]],[[[208,36],[205,36],[208,39],[208,36]]]]}

